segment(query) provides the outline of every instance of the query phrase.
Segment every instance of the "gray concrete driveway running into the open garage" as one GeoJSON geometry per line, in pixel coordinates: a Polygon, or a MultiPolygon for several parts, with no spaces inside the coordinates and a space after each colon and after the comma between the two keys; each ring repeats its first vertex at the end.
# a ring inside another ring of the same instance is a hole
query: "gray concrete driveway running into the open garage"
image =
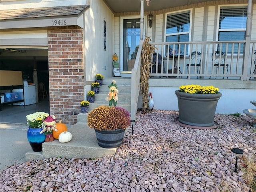
{"type": "Polygon", "coordinates": [[[18,106],[3,105],[0,111],[0,172],[16,162],[25,162],[26,152],[32,150],[27,139],[26,115],[35,111],[50,113],[49,99],[18,106]]]}

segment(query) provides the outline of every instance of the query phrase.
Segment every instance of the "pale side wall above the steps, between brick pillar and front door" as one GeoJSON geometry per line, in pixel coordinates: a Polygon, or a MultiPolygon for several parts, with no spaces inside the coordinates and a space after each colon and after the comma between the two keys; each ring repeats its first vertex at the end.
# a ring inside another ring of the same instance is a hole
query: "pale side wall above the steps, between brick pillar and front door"
{"type": "MultiPolygon", "coordinates": [[[[114,52],[114,14],[103,1],[90,3],[84,12],[84,63],[86,81],[95,74],[112,76],[112,55],[114,52]],[[106,50],[104,50],[104,20],[106,21],[106,50]]],[[[90,90],[90,86],[86,91],[90,90]]]]}

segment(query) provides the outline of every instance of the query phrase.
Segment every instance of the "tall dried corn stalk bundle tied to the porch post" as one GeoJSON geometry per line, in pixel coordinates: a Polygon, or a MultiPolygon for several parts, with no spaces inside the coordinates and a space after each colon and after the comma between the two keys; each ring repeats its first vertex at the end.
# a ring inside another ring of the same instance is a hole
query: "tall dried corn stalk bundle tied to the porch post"
{"type": "Polygon", "coordinates": [[[151,39],[146,37],[142,45],[142,53],[140,56],[141,65],[140,65],[140,93],[142,94],[142,111],[148,112],[148,78],[150,64],[152,63],[151,54],[154,52],[154,47],[152,44],[148,43],[151,39]]]}

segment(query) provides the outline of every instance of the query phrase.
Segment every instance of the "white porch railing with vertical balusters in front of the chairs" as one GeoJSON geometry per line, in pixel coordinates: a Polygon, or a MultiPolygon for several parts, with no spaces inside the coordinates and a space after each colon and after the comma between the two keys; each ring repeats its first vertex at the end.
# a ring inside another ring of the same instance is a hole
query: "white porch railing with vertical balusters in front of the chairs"
{"type": "Polygon", "coordinates": [[[245,41],[163,42],[152,45],[157,53],[152,54],[152,61],[156,61],[151,66],[152,77],[256,80],[256,42],[250,42],[249,53],[244,53],[245,41]],[[200,54],[193,58],[192,52],[200,54]],[[217,54],[213,54],[215,52],[217,54]],[[249,58],[244,64],[246,55],[249,58]]]}

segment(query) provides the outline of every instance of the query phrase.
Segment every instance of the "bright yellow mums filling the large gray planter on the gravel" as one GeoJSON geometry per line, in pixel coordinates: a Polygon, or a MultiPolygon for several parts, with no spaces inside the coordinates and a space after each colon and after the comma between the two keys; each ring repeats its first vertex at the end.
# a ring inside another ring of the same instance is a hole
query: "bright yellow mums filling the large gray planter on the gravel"
{"type": "Polygon", "coordinates": [[[190,94],[216,94],[219,89],[214,86],[182,85],[180,91],[190,94]]]}

